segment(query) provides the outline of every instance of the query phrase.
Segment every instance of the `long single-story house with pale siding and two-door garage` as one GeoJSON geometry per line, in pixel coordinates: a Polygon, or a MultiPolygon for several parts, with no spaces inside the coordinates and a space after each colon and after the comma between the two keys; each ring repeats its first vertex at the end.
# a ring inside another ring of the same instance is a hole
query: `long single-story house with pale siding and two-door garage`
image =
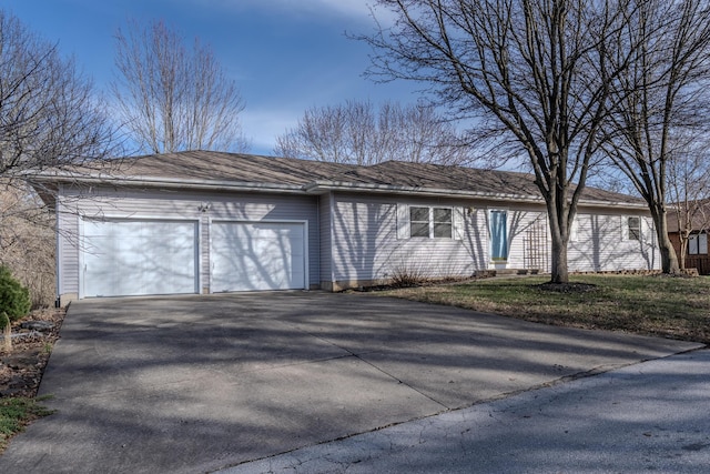
{"type": "MultiPolygon", "coordinates": [[[[58,215],[58,294],[347,288],[402,273],[549,272],[534,177],[385,162],[371,167],[219,152],[43,173],[58,215]],[[57,195],[53,200],[52,195],[57,195]]],[[[585,191],[570,271],[658,268],[645,203],[585,191]]]]}

